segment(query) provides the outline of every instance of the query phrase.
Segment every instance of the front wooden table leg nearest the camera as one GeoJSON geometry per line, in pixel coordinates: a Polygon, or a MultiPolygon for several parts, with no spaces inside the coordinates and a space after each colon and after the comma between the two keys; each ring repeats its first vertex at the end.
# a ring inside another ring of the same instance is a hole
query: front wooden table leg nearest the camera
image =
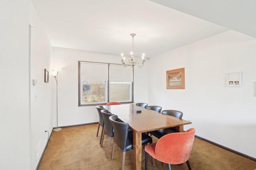
{"type": "Polygon", "coordinates": [[[141,170],[141,133],[133,131],[133,159],[134,159],[134,170],[141,170]]]}

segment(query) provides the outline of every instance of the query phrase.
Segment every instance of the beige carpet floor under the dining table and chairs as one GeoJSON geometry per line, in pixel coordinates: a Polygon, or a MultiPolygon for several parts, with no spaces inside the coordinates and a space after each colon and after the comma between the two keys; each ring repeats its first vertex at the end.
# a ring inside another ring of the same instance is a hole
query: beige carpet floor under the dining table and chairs
{"type": "MultiPolygon", "coordinates": [[[[114,160],[106,158],[108,135],[100,147],[100,135],[96,137],[98,124],[63,128],[52,132],[50,142],[42,156],[38,170],[119,170],[122,164],[122,150],[115,147],[114,160]]],[[[153,142],[158,139],[153,137],[153,142]]],[[[112,144],[112,142],[111,142],[112,144]]],[[[112,145],[110,150],[112,149],[112,145]]],[[[155,161],[152,166],[148,159],[148,170],[168,170],[155,161]]],[[[195,138],[190,155],[192,170],[254,170],[256,162],[221,149],[195,138]]],[[[145,165],[145,152],[142,150],[142,169],[145,165]]],[[[125,169],[133,169],[133,150],[126,152],[125,169]]],[[[188,170],[186,163],[172,165],[172,170],[188,170]]]]}

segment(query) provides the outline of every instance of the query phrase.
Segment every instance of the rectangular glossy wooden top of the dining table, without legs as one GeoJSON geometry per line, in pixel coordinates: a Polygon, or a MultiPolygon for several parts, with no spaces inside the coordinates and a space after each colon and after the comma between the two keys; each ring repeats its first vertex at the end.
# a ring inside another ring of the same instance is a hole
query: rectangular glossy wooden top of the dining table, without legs
{"type": "Polygon", "coordinates": [[[118,115],[121,121],[128,123],[130,129],[137,133],[191,124],[190,121],[162,114],[134,104],[111,105],[104,106],[104,108],[108,109],[110,113],[118,115]],[[135,113],[134,110],[141,110],[141,113],[135,113]]]}

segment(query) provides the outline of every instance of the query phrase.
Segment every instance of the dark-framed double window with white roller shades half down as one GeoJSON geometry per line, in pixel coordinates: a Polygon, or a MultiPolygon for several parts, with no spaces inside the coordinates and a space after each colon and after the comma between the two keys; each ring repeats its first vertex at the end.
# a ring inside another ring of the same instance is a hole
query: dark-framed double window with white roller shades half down
{"type": "Polygon", "coordinates": [[[78,77],[78,106],[133,102],[131,66],[78,61],[78,77]]]}

